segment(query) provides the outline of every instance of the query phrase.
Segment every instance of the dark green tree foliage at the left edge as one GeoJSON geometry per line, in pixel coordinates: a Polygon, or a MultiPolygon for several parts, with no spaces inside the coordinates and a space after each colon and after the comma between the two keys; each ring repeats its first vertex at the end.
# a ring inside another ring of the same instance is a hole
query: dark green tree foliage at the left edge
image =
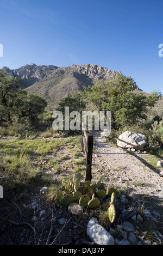
{"type": "Polygon", "coordinates": [[[0,70],[1,125],[11,124],[15,118],[34,122],[45,111],[46,106],[47,102],[39,95],[28,94],[23,90],[20,78],[6,77],[4,70],[0,70]]]}

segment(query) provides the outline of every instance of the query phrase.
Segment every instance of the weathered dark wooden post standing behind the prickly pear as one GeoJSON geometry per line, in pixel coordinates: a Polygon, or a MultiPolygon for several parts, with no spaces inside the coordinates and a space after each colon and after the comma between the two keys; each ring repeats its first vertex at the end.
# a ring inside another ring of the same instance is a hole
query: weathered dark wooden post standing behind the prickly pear
{"type": "Polygon", "coordinates": [[[86,154],[86,175],[85,180],[92,179],[92,152],[93,152],[93,135],[87,133],[84,130],[84,125],[82,123],[82,143],[81,150],[85,150],[86,154]]]}

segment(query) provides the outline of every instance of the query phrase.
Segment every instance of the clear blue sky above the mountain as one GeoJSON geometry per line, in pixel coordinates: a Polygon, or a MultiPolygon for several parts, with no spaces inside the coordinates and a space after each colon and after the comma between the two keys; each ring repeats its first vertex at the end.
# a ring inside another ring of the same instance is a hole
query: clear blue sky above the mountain
{"type": "Polygon", "coordinates": [[[162,13],[161,0],[1,0],[0,68],[97,64],[163,92],[162,13]]]}

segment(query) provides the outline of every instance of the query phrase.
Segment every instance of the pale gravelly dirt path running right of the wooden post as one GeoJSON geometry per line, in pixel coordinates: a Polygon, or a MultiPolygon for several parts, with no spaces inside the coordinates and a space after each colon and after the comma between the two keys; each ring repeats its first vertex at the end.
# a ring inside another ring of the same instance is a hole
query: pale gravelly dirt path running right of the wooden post
{"type": "Polygon", "coordinates": [[[92,176],[101,175],[110,185],[118,185],[134,190],[134,194],[148,194],[158,198],[163,177],[161,169],[153,170],[145,160],[148,154],[133,153],[111,146],[99,132],[94,132],[92,176]],[[135,183],[136,182],[136,183],[135,183]]]}

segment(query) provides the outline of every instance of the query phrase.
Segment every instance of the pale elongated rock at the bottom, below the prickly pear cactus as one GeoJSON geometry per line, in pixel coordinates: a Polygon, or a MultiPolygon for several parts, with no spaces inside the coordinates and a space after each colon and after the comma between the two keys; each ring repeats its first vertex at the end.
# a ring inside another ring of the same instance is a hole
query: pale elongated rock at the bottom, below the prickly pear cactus
{"type": "Polygon", "coordinates": [[[114,245],[114,238],[104,227],[98,224],[97,218],[91,218],[87,224],[86,233],[97,245],[114,245]]]}

